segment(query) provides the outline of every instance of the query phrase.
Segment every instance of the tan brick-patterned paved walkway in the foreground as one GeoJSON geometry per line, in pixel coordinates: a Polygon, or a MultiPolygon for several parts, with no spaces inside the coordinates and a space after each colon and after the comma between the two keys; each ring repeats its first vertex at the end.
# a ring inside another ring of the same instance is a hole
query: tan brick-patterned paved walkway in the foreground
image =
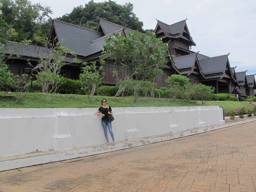
{"type": "MultiPolygon", "coordinates": [[[[228,120],[227,120],[228,121],[228,120]]],[[[255,192],[256,121],[0,172],[1,192],[255,192]]]]}

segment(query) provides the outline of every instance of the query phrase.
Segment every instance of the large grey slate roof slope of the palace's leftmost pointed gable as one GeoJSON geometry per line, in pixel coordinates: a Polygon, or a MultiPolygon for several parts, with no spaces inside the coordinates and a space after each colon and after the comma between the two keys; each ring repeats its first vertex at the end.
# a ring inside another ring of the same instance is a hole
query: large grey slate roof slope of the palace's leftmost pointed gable
{"type": "Polygon", "coordinates": [[[58,41],[64,38],[64,42],[61,43],[62,45],[75,51],[77,55],[81,56],[88,54],[88,48],[91,45],[90,41],[104,36],[101,32],[60,20],[53,20],[51,36],[53,36],[54,32],[58,41]]]}

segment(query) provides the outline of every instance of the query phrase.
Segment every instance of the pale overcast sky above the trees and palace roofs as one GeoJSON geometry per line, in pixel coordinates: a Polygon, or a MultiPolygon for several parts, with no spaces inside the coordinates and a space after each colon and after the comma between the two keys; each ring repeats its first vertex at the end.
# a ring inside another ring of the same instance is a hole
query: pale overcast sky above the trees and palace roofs
{"type": "MultiPolygon", "coordinates": [[[[88,0],[30,0],[32,4],[48,5],[52,18],[70,13],[88,0]]],[[[103,0],[94,0],[95,3],[103,0]]],[[[133,4],[133,12],[143,22],[144,29],[155,29],[156,19],[173,24],[187,19],[190,35],[200,51],[209,57],[229,54],[231,67],[246,75],[256,73],[256,1],[255,0],[116,0],[117,4],[133,4]]]]}

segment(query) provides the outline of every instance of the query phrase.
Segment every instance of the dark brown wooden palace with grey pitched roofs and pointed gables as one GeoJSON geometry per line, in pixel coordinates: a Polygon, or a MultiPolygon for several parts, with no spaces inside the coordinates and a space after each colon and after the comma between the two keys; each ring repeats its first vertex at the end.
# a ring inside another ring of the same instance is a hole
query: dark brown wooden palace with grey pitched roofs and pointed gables
{"type": "MultiPolygon", "coordinates": [[[[76,52],[79,62],[67,64],[62,68],[62,74],[67,78],[78,79],[80,67],[84,61],[97,61],[101,55],[104,39],[113,32],[120,33],[122,36],[128,36],[132,29],[115,23],[99,20],[97,30],[83,28],[77,25],[66,23],[59,20],[53,20],[50,38],[57,37],[57,41],[65,39],[62,45],[76,52]]],[[[215,87],[216,93],[238,94],[240,97],[254,96],[256,83],[254,75],[246,75],[246,72],[236,72],[231,68],[228,61],[228,54],[216,57],[208,57],[199,52],[191,51],[191,46],[196,46],[188,31],[186,20],[174,23],[172,25],[157,21],[155,34],[161,38],[164,43],[169,45],[169,54],[175,55],[163,68],[164,75],[156,76],[157,87],[166,86],[165,80],[172,74],[179,74],[190,79],[191,84],[205,84],[215,87]]],[[[7,56],[10,53],[20,55],[18,59],[7,60],[9,69],[14,75],[29,73],[28,61],[38,62],[37,52],[29,45],[16,44],[19,51],[14,49],[11,44],[8,46],[7,56]]],[[[41,47],[42,52],[47,48],[41,47]]],[[[118,63],[106,60],[103,65],[105,72],[102,84],[115,85],[116,78],[112,76],[112,71],[118,71],[121,66],[118,63]]],[[[122,74],[120,74],[122,76],[122,74]]]]}

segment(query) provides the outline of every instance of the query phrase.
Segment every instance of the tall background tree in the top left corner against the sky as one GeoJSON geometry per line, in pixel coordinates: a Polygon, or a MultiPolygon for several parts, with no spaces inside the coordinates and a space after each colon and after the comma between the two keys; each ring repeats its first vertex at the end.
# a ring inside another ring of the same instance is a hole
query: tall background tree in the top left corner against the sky
{"type": "Polygon", "coordinates": [[[3,19],[19,34],[10,38],[10,41],[20,42],[25,38],[31,39],[33,35],[45,35],[40,26],[52,13],[49,6],[31,4],[29,0],[2,0],[2,3],[3,19]]]}

